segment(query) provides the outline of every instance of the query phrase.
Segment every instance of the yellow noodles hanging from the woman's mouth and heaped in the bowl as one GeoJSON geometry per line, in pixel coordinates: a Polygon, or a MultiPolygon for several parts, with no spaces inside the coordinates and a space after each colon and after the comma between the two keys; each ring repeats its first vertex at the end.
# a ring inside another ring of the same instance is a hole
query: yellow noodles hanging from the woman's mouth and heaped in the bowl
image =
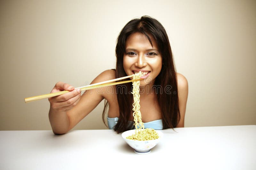
{"type": "MultiPolygon", "coordinates": [[[[139,73],[133,74],[134,79],[140,79],[141,71],[139,73]]],[[[141,120],[140,113],[140,81],[132,82],[132,94],[133,94],[133,121],[135,125],[135,134],[126,137],[127,139],[132,140],[154,140],[158,139],[158,133],[152,128],[144,129],[144,123],[141,120]]]]}

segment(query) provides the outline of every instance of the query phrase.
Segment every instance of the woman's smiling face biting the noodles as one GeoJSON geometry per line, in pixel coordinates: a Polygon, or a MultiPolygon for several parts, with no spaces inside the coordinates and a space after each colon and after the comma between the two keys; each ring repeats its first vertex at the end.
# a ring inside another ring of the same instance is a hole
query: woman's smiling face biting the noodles
{"type": "Polygon", "coordinates": [[[141,86],[154,84],[156,76],[162,69],[162,56],[158,51],[155,39],[149,36],[153,47],[142,33],[136,32],[131,34],[125,43],[125,53],[123,66],[127,75],[132,75],[141,71],[141,86]]]}

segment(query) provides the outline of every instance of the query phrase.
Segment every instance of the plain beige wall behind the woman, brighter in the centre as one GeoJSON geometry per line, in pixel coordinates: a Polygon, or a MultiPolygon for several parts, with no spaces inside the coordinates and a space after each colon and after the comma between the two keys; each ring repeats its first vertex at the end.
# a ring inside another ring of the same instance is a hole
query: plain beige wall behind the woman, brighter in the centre
{"type": "MultiPolygon", "coordinates": [[[[46,94],[115,67],[118,33],[149,15],[188,79],[185,127],[256,124],[256,1],[1,1],[0,130],[50,130],[46,94]]],[[[74,129],[106,129],[103,102],[74,129]]]]}

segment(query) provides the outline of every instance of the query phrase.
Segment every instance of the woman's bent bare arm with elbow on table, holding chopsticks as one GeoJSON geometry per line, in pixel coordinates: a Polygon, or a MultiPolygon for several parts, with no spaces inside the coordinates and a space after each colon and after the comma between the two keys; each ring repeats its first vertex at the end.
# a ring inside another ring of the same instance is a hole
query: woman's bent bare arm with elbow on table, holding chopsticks
{"type": "MultiPolygon", "coordinates": [[[[98,75],[91,84],[107,81],[115,78],[114,70],[106,70],[98,75]]],[[[76,124],[78,124],[85,116],[87,116],[103,99],[104,91],[106,87],[91,89],[86,91],[80,98],[77,103],[71,104],[69,110],[63,110],[67,106],[58,105],[63,101],[63,104],[72,103],[70,102],[71,98],[68,98],[66,93],[64,95],[55,96],[55,98],[49,98],[51,103],[49,111],[49,120],[52,126],[52,131],[54,134],[64,134],[70,131],[76,124]],[[69,102],[68,102],[69,100],[69,102]]],[[[70,106],[69,106],[70,107],[70,106]]]]}

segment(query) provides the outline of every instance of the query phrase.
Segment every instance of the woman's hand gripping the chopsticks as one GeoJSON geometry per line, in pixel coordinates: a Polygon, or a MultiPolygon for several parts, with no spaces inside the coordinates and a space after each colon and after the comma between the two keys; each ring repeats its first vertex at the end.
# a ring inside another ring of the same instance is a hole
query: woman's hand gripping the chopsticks
{"type": "Polygon", "coordinates": [[[54,96],[48,98],[50,102],[50,108],[57,111],[57,112],[67,112],[68,110],[72,109],[76,104],[79,102],[81,98],[81,90],[75,89],[73,86],[63,83],[57,82],[52,89],[51,93],[68,90],[70,92],[65,93],[60,96],[54,96]]]}

